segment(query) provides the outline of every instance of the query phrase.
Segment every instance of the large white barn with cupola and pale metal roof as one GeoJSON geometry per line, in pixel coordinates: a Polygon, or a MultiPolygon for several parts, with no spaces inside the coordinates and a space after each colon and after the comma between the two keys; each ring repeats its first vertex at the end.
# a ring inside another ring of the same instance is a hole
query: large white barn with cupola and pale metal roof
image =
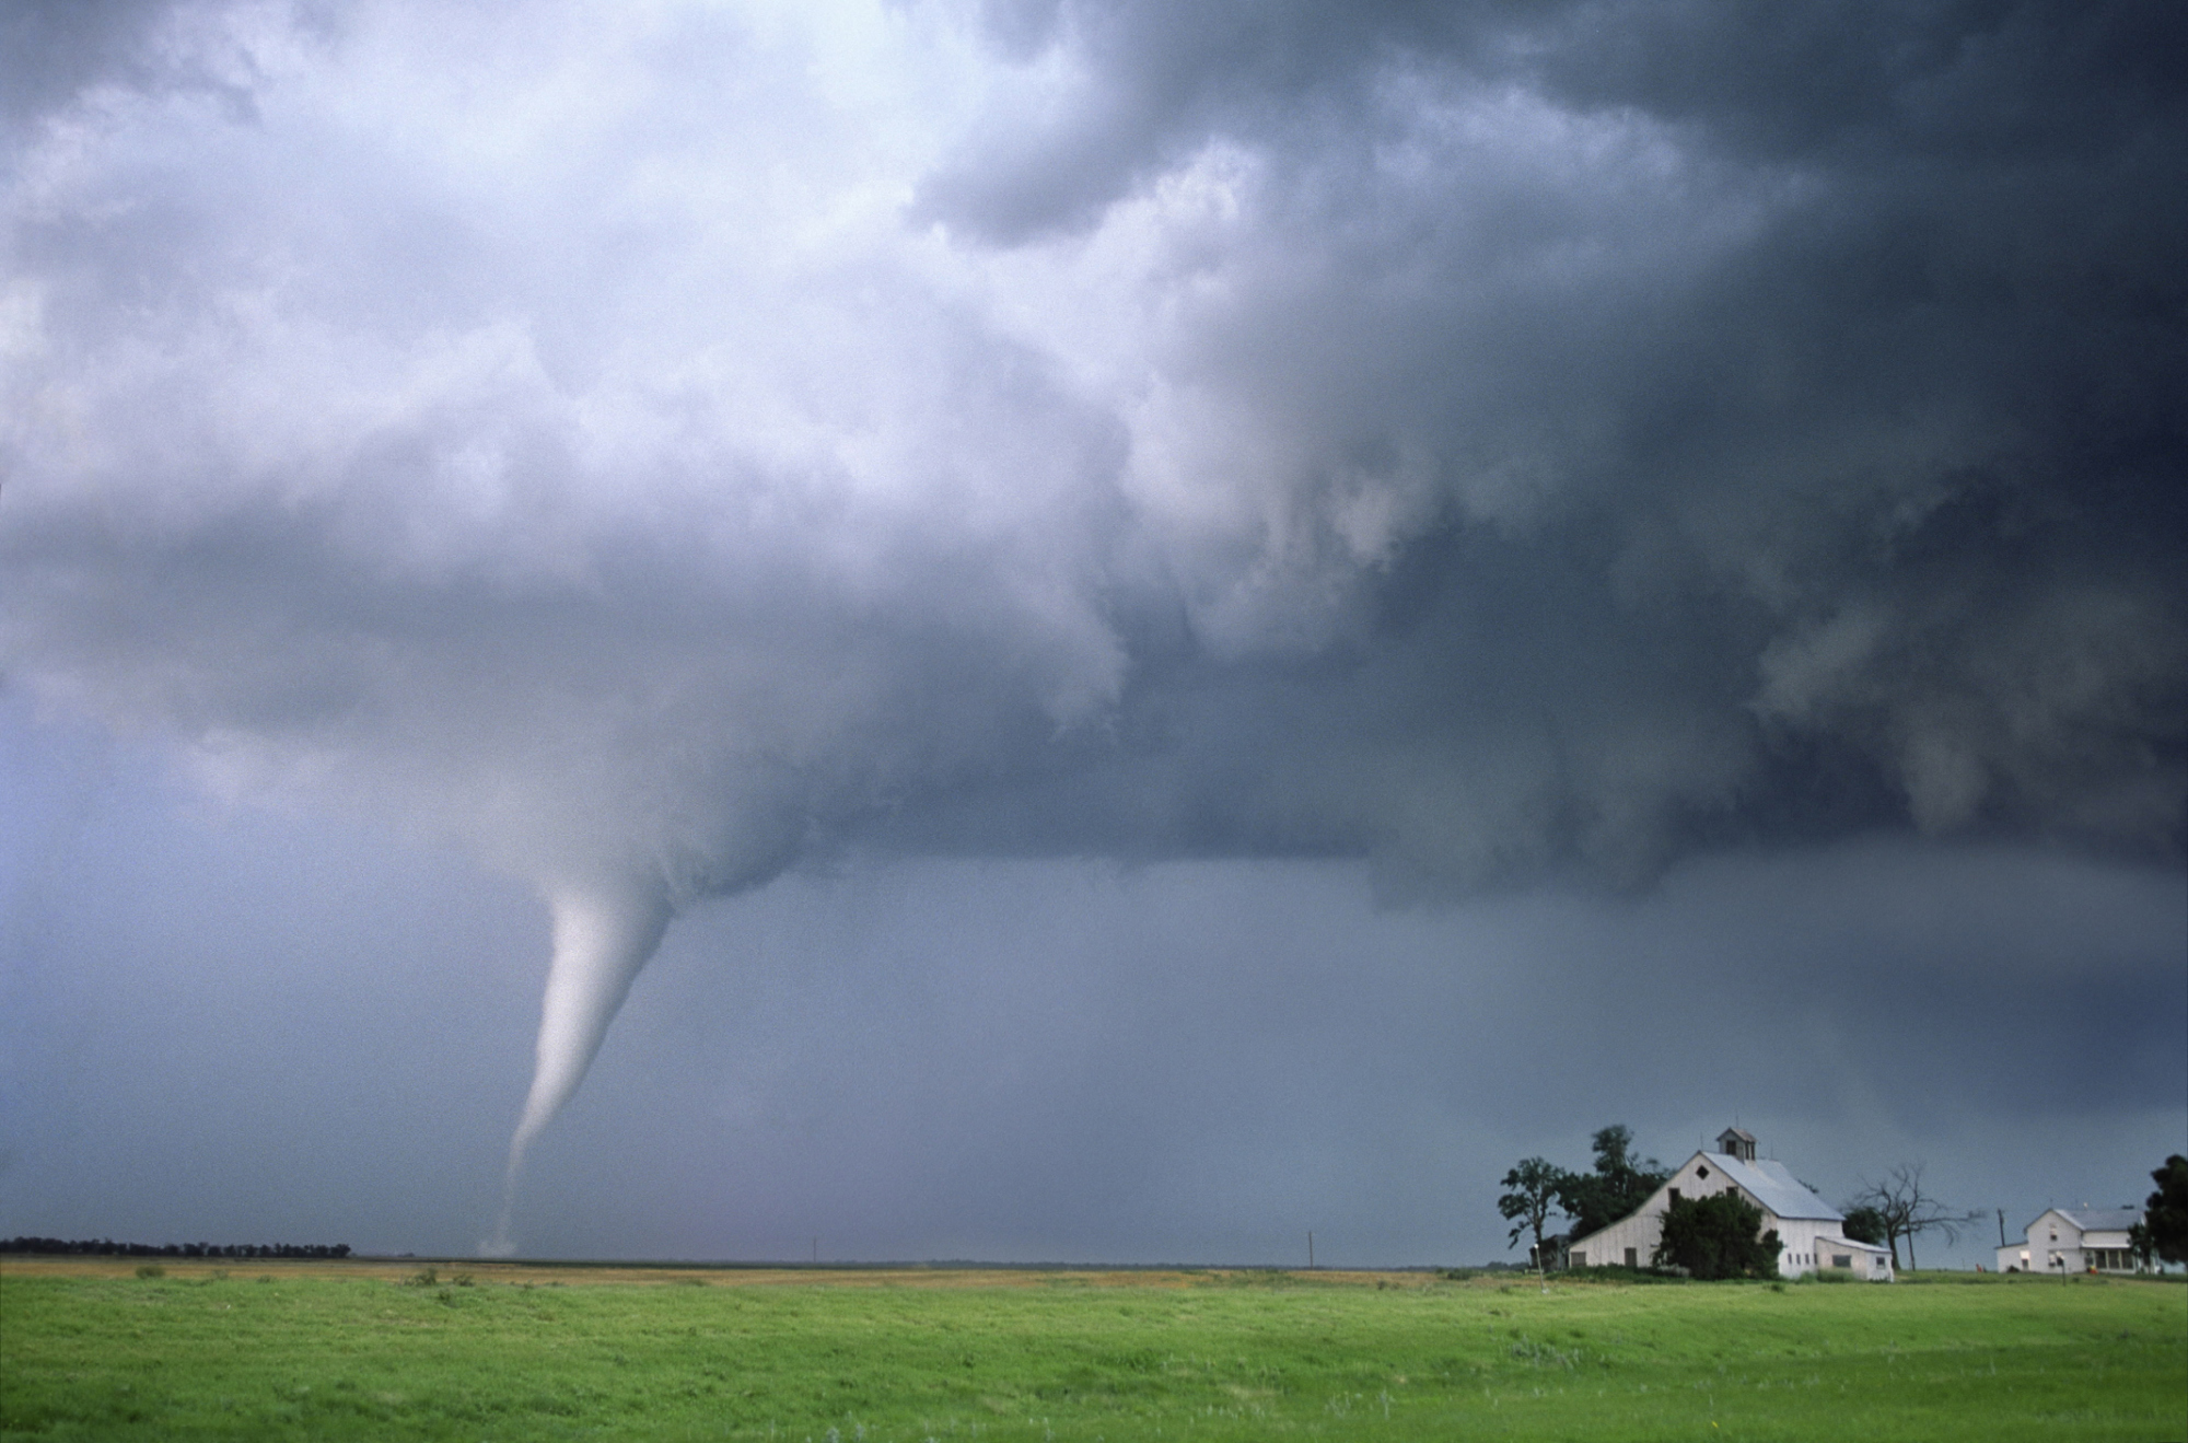
{"type": "Polygon", "coordinates": [[[1755,1139],[1739,1128],[1718,1135],[1715,1152],[1696,1152],[1672,1178],[1650,1194],[1641,1211],[1610,1227],[1573,1237],[1567,1264],[1573,1268],[1645,1268],[1663,1242],[1663,1216],[1674,1198],[1707,1198],[1735,1192],[1764,1213],[1764,1229],[1779,1235],[1779,1272],[1801,1277],[1836,1268],[1853,1277],[1890,1281],[1893,1255],[1873,1242],[1853,1242],[1840,1229],[1847,1218],[1812,1194],[1779,1161],[1755,1161],[1755,1139]]]}

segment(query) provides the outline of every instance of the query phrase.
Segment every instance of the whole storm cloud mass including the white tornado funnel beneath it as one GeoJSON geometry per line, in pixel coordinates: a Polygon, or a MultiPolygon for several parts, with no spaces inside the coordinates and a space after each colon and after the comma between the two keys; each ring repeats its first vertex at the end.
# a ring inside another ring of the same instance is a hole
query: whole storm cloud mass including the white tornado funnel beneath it
{"type": "Polygon", "coordinates": [[[845,848],[2179,857],[2175,7],[11,24],[4,680],[536,883],[519,1152],[845,848]]]}

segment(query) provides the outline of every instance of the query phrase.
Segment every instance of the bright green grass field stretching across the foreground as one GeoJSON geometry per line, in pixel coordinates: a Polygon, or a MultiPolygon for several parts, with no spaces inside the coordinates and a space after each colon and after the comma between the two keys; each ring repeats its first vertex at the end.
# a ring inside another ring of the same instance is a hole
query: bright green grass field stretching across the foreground
{"type": "Polygon", "coordinates": [[[11,1262],[0,1436],[2188,1439],[2177,1281],[438,1270],[11,1262]]]}

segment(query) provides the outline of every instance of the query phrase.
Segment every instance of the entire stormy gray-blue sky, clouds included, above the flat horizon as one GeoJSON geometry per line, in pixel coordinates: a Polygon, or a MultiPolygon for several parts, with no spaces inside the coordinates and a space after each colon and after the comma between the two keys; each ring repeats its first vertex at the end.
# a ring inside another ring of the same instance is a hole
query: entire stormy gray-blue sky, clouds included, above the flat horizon
{"type": "Polygon", "coordinates": [[[468,1251],[519,1115],[571,1255],[2138,1200],[2184,44],[13,7],[0,1233],[468,1251]]]}

